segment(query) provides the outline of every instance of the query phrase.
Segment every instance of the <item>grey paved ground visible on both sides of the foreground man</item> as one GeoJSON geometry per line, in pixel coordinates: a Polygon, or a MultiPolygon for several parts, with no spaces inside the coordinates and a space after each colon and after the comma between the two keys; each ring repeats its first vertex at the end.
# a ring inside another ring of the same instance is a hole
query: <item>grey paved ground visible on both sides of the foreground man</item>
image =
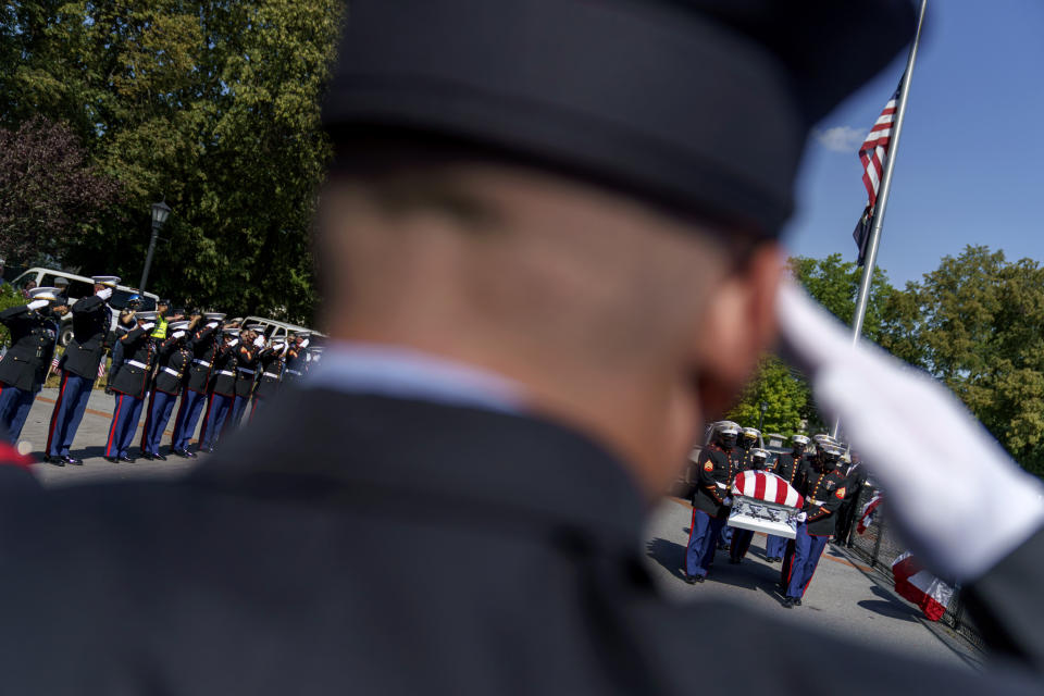
{"type": "MultiPolygon", "coordinates": [[[[41,459],[47,428],[57,389],[45,389],[37,398],[22,432],[23,448],[41,459]]],[[[83,467],[35,464],[47,485],[69,485],[105,480],[174,477],[183,475],[199,460],[171,457],[165,462],[139,459],[134,464],[113,464],[102,459],[113,399],[96,390],[73,444],[73,453],[84,459],[83,467]]],[[[142,415],[141,423],[145,422],[142,415]]],[[[132,455],[140,438],[140,423],[132,455]]],[[[163,452],[170,433],[163,438],[163,452]]],[[[201,456],[202,459],[206,456],[201,456]]],[[[663,591],[672,598],[722,597],[756,607],[767,613],[828,634],[844,636],[867,645],[900,650],[907,656],[950,664],[974,667],[981,654],[948,630],[927,621],[920,611],[900,599],[880,575],[861,561],[829,546],[801,607],[785,609],[775,589],[780,566],[763,559],[765,537],[756,535],[750,552],[739,566],[731,566],[719,552],[706,583],[687,585],[681,579],[692,509],[681,500],[666,499],[652,514],[647,532],[649,564],[663,591]]]]}

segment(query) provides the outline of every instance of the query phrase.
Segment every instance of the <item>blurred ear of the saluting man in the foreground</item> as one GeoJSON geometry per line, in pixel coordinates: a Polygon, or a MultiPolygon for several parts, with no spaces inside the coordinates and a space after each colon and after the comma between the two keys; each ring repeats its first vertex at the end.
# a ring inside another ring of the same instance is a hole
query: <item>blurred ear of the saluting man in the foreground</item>
{"type": "Polygon", "coordinates": [[[731,409],[775,339],[775,296],[783,256],[774,244],[755,248],[746,264],[712,289],[695,338],[704,418],[731,409]]]}

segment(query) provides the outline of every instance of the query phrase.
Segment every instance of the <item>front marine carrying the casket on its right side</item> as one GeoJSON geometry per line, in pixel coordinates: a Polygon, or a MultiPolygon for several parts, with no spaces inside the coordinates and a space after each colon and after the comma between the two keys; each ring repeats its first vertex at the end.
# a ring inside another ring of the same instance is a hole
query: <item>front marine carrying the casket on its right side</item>
{"type": "Polygon", "coordinates": [[[847,493],[847,475],[837,468],[841,455],[842,449],[835,442],[817,443],[813,468],[801,490],[805,519],[797,525],[797,538],[787,545],[787,558],[783,564],[784,607],[800,606],[823,549],[834,533],[835,512],[847,493]]]}

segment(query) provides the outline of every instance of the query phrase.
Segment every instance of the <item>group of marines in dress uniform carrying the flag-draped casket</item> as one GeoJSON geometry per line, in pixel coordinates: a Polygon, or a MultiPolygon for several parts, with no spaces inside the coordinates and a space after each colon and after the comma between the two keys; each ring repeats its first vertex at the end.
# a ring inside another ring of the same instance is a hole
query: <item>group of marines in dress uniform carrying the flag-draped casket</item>
{"type": "Polygon", "coordinates": [[[719,549],[729,550],[730,563],[743,560],[754,532],[728,526],[732,483],[741,472],[766,471],[786,481],[805,500],[797,518],[797,537],[770,535],[765,551],[769,562],[782,562],[783,606],[799,607],[830,538],[852,546],[856,500],[867,485],[867,471],[857,452],[844,461],[844,446],[829,435],[817,435],[815,440],[794,435],[791,451],[774,460],[756,447],[760,438],[754,427],[741,428],[732,421],[714,424],[711,442],[700,450],[692,470],[693,522],[683,576],[689,584],[704,582],[719,549]],[[809,451],[812,443],[815,449],[809,451]]]}

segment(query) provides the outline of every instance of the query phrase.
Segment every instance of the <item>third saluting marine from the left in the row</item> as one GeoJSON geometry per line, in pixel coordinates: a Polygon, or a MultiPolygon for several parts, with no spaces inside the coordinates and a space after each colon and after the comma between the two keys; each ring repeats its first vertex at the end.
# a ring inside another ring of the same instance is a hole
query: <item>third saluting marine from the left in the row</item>
{"type": "Polygon", "coordinates": [[[105,440],[105,459],[113,463],[136,461],[130,457],[130,443],[138,428],[141,407],[149,396],[156,366],[156,344],[152,340],[156,312],[138,312],[135,320],[137,325],[117,339],[123,344],[124,358],[110,385],[116,403],[105,440]]]}

